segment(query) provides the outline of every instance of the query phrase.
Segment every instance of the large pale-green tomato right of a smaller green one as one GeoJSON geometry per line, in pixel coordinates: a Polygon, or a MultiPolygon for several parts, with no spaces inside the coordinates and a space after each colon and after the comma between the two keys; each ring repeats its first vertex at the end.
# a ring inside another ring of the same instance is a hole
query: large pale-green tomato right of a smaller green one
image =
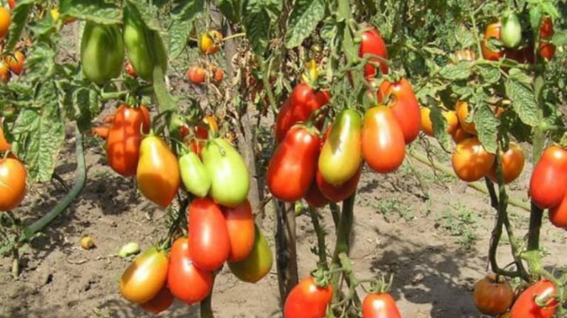
{"type": "Polygon", "coordinates": [[[242,204],[248,196],[250,177],[240,153],[225,139],[217,138],[206,143],[201,155],[210,176],[210,197],[230,208],[242,204]]]}

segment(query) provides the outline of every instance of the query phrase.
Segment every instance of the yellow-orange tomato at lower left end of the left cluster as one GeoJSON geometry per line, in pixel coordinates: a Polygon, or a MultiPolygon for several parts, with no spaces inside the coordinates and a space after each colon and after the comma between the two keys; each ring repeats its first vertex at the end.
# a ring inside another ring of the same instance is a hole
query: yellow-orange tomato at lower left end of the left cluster
{"type": "Polygon", "coordinates": [[[156,247],[147,249],[122,274],[120,293],[130,302],[149,302],[164,287],[168,265],[165,252],[156,247]]]}

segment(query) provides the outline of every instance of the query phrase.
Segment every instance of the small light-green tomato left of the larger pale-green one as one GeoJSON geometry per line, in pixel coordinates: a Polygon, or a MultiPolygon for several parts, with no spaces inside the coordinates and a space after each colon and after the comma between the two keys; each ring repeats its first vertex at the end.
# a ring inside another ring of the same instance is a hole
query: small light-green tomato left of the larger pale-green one
{"type": "Polygon", "coordinates": [[[187,191],[198,197],[205,197],[210,189],[210,177],[205,165],[196,153],[186,153],[179,158],[181,180],[187,191]]]}

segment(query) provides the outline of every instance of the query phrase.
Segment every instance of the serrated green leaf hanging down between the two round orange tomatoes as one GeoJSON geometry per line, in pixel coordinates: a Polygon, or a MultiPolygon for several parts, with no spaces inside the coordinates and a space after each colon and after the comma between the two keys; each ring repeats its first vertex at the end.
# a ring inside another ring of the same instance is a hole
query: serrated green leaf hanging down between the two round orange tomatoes
{"type": "Polygon", "coordinates": [[[475,123],[476,131],[478,131],[478,140],[481,141],[486,151],[496,153],[500,121],[494,116],[488,104],[483,102],[480,105],[476,105],[473,122],[475,123]]]}

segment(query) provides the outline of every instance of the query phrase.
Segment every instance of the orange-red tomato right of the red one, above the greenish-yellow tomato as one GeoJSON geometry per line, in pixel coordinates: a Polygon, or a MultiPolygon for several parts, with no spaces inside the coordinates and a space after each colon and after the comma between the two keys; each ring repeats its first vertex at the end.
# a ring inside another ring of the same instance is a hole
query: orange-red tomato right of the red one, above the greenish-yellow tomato
{"type": "Polygon", "coordinates": [[[254,247],[252,207],[246,199],[243,204],[235,208],[223,208],[223,213],[230,239],[228,261],[242,261],[249,256],[254,247]]]}

